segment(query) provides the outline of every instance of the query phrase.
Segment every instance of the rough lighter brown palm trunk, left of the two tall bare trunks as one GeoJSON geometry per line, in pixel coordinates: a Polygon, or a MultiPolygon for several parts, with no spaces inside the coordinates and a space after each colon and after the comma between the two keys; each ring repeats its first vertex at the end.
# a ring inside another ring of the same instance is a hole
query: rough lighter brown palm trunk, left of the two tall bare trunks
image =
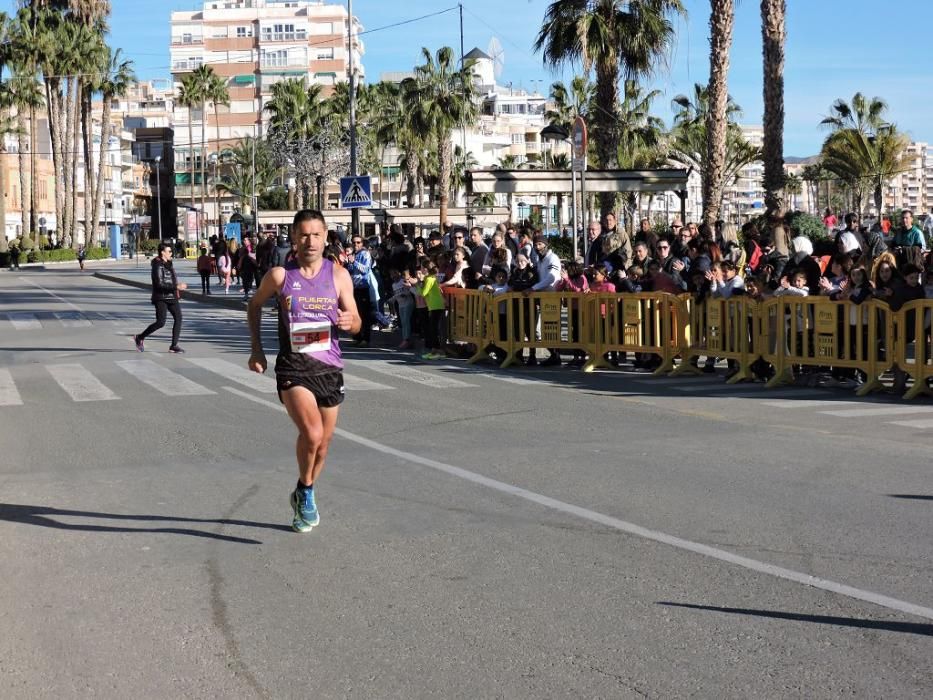
{"type": "Polygon", "coordinates": [[[706,177],[703,178],[703,221],[719,218],[726,164],[726,106],[729,101],[729,50],[735,25],[734,0],[710,0],[709,109],[706,113],[706,177]]]}

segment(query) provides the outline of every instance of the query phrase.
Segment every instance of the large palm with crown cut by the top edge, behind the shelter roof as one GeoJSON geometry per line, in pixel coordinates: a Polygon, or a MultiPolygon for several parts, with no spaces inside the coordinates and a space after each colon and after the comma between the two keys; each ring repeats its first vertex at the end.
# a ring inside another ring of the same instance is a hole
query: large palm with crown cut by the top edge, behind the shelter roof
{"type": "MultiPolygon", "coordinates": [[[[685,15],[681,0],[553,0],[535,40],[535,50],[553,67],[579,62],[596,73],[592,137],[597,164],[617,166],[619,79],[649,75],[674,38],[671,15],[685,15]]],[[[601,213],[615,195],[600,195],[601,213]]]]}

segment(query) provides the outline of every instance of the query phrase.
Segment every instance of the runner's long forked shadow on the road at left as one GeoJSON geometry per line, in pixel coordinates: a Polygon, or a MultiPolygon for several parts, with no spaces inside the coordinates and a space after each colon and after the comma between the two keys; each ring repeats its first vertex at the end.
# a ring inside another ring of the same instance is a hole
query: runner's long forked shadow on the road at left
{"type": "Polygon", "coordinates": [[[64,510],[62,508],[48,508],[45,506],[30,506],[16,503],[0,503],[0,520],[7,520],[12,523],[23,523],[25,525],[38,525],[39,527],[49,527],[56,530],[77,530],[80,532],[154,532],[174,535],[189,535],[191,537],[204,537],[207,539],[221,540],[224,542],[236,542],[239,544],[262,544],[260,540],[249,539],[246,537],[235,537],[233,535],[223,535],[219,532],[192,530],[183,527],[121,527],[117,525],[65,523],[59,520],[55,520],[54,516],[102,518],[105,520],[127,520],[130,522],[145,521],[201,523],[222,526],[236,525],[240,527],[257,527],[267,530],[291,532],[291,528],[286,525],[256,523],[249,520],[231,520],[228,518],[178,518],[170,515],[125,515],[117,513],[96,513],[86,510],[64,510]]]}

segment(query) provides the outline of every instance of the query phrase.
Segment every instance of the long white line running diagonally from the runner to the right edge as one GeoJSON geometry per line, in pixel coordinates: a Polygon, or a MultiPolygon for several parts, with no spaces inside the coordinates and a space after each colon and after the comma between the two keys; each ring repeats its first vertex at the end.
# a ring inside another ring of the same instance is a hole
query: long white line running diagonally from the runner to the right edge
{"type": "MultiPolygon", "coordinates": [[[[236,394],[237,396],[242,396],[243,398],[249,399],[250,401],[255,401],[256,403],[263,404],[264,406],[275,409],[276,411],[281,411],[283,413],[285,412],[285,408],[283,406],[272,403],[271,401],[266,401],[265,399],[261,399],[258,396],[247,394],[245,391],[240,391],[239,389],[229,386],[224,387],[224,389],[233,394],[236,394]]],[[[507,484],[504,481],[490,479],[487,476],[467,471],[461,467],[455,467],[450,464],[445,464],[444,462],[438,462],[433,459],[428,459],[427,457],[421,457],[419,455],[412,454],[411,452],[397,450],[394,447],[383,445],[382,443],[376,442],[375,440],[364,438],[361,435],[356,435],[346,430],[342,430],[341,428],[337,428],[334,432],[336,435],[342,437],[345,440],[363,445],[364,447],[368,447],[369,449],[375,450],[376,452],[392,455],[393,457],[398,457],[399,459],[404,459],[409,462],[414,462],[415,464],[430,467],[431,469],[436,469],[437,471],[444,472],[445,474],[455,476],[459,479],[472,481],[475,484],[486,486],[487,488],[493,489],[495,491],[506,493],[517,498],[523,498],[526,501],[537,503],[538,505],[542,505],[545,508],[551,508],[552,510],[567,513],[568,515],[575,515],[578,518],[589,520],[590,522],[594,523],[599,523],[600,525],[605,525],[606,527],[611,527],[615,530],[620,530],[621,532],[627,532],[630,535],[635,535],[636,537],[652,540],[653,542],[660,542],[661,544],[670,545],[671,547],[676,547],[677,549],[682,549],[687,552],[693,552],[694,554],[699,554],[701,556],[710,557],[711,559],[718,559],[719,561],[724,561],[728,564],[734,564],[735,566],[741,566],[751,571],[757,571],[769,576],[782,578],[786,581],[800,583],[805,586],[811,586],[813,588],[829,591],[830,593],[838,593],[839,595],[854,598],[855,600],[861,600],[866,603],[880,605],[881,607],[888,608],[889,610],[897,610],[908,615],[916,615],[917,617],[933,620],[933,608],[927,608],[922,605],[917,605],[916,603],[899,600],[897,598],[892,598],[880,593],[873,593],[872,591],[866,591],[861,588],[854,588],[853,586],[847,586],[844,583],[837,583],[836,581],[830,581],[829,579],[820,578],[818,576],[811,576],[799,571],[793,571],[792,569],[785,569],[782,566],[775,566],[774,564],[768,564],[763,561],[758,561],[757,559],[743,557],[739,554],[727,552],[724,549],[718,549],[717,547],[710,547],[709,545],[701,544],[699,542],[685,540],[681,537],[668,535],[658,530],[650,530],[646,527],[642,527],[641,525],[626,522],[625,520],[620,520],[619,518],[614,518],[610,515],[603,515],[602,513],[597,513],[594,510],[589,510],[588,508],[581,508],[580,506],[575,506],[572,503],[558,501],[557,499],[551,498],[549,496],[544,496],[540,493],[535,493],[534,491],[528,491],[527,489],[523,489],[520,486],[513,486],[512,484],[507,484]]]]}

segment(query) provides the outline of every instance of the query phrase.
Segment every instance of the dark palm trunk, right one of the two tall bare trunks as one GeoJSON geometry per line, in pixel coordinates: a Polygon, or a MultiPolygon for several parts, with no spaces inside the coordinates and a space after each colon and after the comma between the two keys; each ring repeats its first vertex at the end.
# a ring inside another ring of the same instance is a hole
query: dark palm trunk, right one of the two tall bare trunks
{"type": "Polygon", "coordinates": [[[764,161],[765,210],[769,216],[784,212],[784,43],[786,0],[761,0],[761,35],[764,58],[764,161]]]}

